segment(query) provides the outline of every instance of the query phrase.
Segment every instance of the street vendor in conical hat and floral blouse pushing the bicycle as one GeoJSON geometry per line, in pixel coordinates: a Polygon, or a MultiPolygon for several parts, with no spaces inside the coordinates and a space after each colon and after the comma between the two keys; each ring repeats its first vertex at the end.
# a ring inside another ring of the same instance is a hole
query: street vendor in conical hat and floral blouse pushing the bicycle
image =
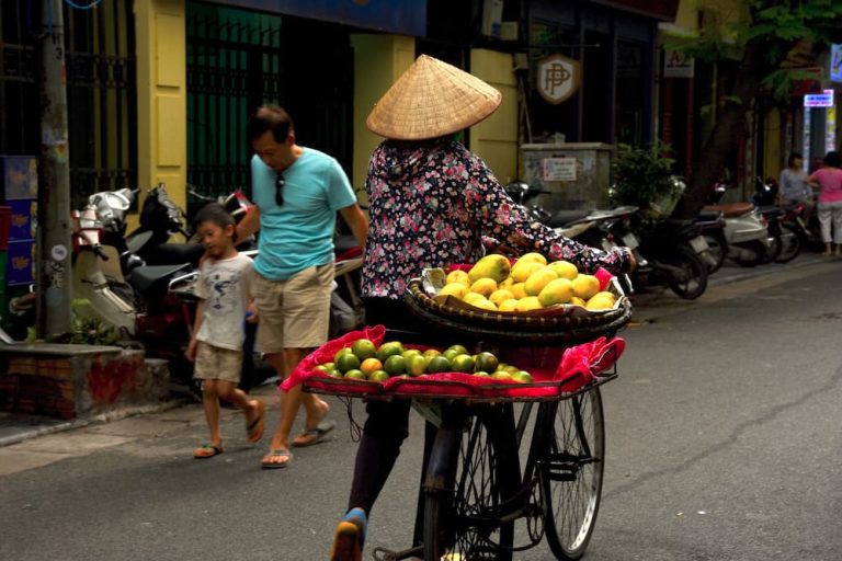
{"type": "MultiPolygon", "coordinates": [[[[366,323],[423,331],[403,304],[426,267],[475,263],[493,239],[521,252],[566,260],[579,270],[630,271],[627,248],[604,252],[532,221],[482,160],[454,139],[497,110],[502,95],[482,80],[422,55],[366,121],[386,138],[372,154],[365,190],[369,228],[362,295],[366,323]]],[[[360,560],[367,517],[409,434],[409,400],[373,401],[357,449],[348,514],[337,526],[332,561],[360,560]]]]}

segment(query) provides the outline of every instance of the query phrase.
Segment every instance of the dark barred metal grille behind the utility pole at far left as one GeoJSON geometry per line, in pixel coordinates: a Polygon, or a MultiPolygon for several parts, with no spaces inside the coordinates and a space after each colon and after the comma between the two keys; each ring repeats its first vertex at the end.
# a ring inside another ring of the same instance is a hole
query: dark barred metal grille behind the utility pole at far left
{"type": "MultiPolygon", "coordinates": [[[[41,150],[41,4],[0,9],[0,153],[41,150]]],[[[137,186],[137,93],[133,0],[95,10],[65,4],[68,149],[72,204],[95,191],[137,186]]]]}

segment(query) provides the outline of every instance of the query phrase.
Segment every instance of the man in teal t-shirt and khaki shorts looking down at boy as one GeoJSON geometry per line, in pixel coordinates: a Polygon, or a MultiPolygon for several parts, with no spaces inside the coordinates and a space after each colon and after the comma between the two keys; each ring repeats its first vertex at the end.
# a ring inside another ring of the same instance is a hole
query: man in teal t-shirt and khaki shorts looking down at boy
{"type": "MultiPolygon", "coordinates": [[[[312,348],[328,339],[333,289],[333,231],[337,211],[365,244],[368,220],[335,159],[295,142],[293,122],[277,105],[263,105],[249,119],[252,208],[237,226],[237,238],[260,230],[254,260],[254,301],[260,316],[255,348],[285,378],[312,348]]],[[[300,386],[281,396],[281,422],[263,457],[265,468],[286,467],[289,445],[318,442],[333,427],[328,403],[300,386]],[[292,443],[299,407],[305,431],[292,443]]]]}

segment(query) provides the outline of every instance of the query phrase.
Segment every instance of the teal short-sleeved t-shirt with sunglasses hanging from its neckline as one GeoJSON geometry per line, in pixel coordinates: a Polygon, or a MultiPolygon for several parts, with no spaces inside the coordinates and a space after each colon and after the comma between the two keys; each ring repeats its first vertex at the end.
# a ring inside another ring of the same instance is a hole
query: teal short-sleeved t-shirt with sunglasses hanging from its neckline
{"type": "Polygon", "coordinates": [[[339,162],[312,148],[304,148],[282,175],[284,204],[277,206],[277,173],[258,156],[251,159],[251,195],[260,207],[254,270],[273,280],[332,262],[337,210],[356,203],[339,162]]]}

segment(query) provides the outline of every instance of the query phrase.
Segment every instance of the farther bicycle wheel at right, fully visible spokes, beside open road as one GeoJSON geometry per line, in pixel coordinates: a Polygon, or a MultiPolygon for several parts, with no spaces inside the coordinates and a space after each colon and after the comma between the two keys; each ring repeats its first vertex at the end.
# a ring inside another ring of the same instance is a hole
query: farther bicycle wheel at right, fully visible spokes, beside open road
{"type": "Polygon", "coordinates": [[[557,559],[574,560],[584,554],[600,507],[605,453],[602,397],[593,388],[541,407],[538,419],[553,426],[539,460],[547,541],[557,559]]]}

